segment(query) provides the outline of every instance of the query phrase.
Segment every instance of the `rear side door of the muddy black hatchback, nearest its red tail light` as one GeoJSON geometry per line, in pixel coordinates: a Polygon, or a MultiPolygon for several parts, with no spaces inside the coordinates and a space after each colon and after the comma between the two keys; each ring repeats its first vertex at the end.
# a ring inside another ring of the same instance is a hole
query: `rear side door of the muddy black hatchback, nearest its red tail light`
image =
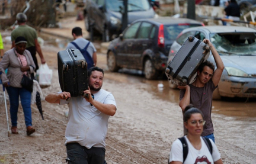
{"type": "Polygon", "coordinates": [[[153,39],[149,38],[153,25],[150,22],[142,22],[137,32],[137,37],[132,46],[132,52],[129,54],[128,60],[133,69],[142,69],[143,67],[143,52],[146,49],[152,49],[153,39]]]}

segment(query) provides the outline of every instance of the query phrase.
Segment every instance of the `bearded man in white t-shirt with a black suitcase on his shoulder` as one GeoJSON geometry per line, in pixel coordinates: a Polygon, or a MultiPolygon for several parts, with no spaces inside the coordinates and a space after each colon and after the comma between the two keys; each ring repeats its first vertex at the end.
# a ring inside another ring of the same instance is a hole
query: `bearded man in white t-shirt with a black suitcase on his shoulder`
{"type": "Polygon", "coordinates": [[[88,70],[88,97],[71,97],[69,92],[51,93],[46,101],[68,104],[66,151],[68,163],[103,164],[105,162],[105,137],[108,118],[116,114],[116,101],[110,92],[101,89],[104,71],[99,67],[88,70]]]}

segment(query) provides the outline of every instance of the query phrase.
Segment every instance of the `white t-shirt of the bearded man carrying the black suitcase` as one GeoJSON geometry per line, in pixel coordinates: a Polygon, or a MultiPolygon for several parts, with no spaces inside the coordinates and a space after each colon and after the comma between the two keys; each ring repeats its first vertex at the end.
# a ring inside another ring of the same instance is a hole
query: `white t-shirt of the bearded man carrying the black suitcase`
{"type": "MultiPolygon", "coordinates": [[[[113,95],[104,89],[94,94],[94,99],[103,104],[116,106],[113,95]]],[[[110,116],[91,106],[82,96],[71,97],[69,101],[60,99],[60,105],[63,104],[69,106],[65,145],[77,142],[87,149],[91,149],[92,146],[105,148],[105,136],[110,116]]]]}

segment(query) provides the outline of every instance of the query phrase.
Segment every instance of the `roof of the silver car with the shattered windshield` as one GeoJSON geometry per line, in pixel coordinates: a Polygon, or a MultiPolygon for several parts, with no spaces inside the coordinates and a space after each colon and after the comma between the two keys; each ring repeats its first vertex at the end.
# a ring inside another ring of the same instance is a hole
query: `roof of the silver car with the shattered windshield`
{"type": "Polygon", "coordinates": [[[226,25],[209,25],[202,27],[191,27],[186,28],[184,31],[193,31],[193,30],[206,30],[209,33],[255,33],[256,30],[254,28],[241,27],[241,26],[226,26],[226,25]]]}

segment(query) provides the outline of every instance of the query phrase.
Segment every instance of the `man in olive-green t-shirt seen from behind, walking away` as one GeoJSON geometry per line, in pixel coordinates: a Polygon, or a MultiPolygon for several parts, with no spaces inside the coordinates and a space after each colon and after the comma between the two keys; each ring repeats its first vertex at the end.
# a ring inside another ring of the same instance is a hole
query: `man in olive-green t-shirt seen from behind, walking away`
{"type": "Polygon", "coordinates": [[[37,32],[34,28],[26,24],[27,16],[24,13],[22,12],[18,13],[16,15],[16,19],[19,26],[15,28],[11,33],[12,47],[15,46],[14,44],[15,39],[19,36],[23,36],[27,40],[26,49],[31,53],[31,56],[33,57],[34,63],[36,65],[36,70],[37,70],[39,69],[39,66],[37,63],[36,52],[39,53],[39,56],[41,58],[41,63],[42,64],[46,63],[43,53],[41,52],[40,44],[37,41],[37,32]]]}

